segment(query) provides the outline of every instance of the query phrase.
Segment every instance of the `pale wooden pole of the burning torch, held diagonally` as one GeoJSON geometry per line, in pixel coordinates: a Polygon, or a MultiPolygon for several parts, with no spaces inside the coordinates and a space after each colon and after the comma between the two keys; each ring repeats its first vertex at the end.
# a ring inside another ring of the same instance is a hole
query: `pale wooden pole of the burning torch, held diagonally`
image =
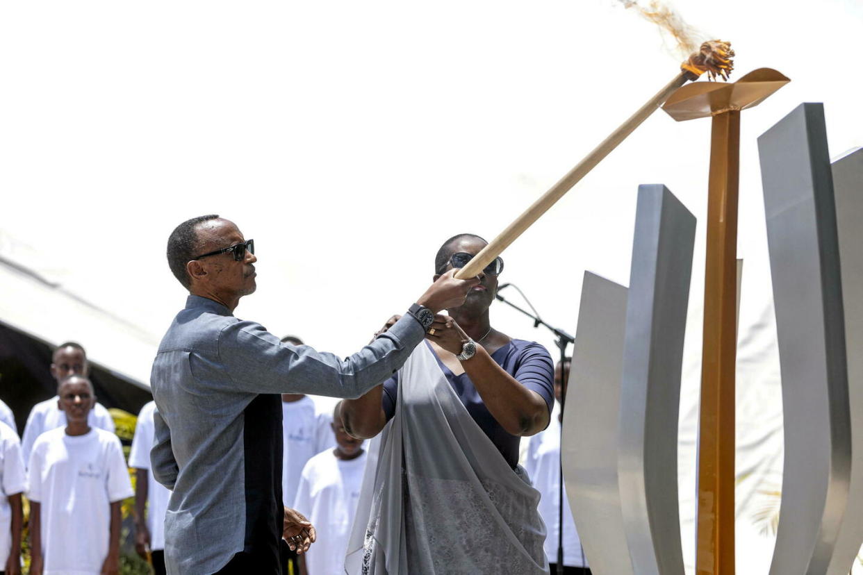
{"type": "Polygon", "coordinates": [[[482,251],[477,253],[468,262],[467,266],[464,266],[456,273],[456,278],[472,278],[481,272],[482,268],[488,266],[494,258],[507,249],[527,228],[530,228],[533,222],[539,220],[539,216],[545,214],[551,206],[557,203],[557,200],[564,197],[564,194],[570,191],[572,186],[593,170],[621,141],[626,140],[627,136],[632,134],[635,128],[638,128],[648,116],[655,112],[671,96],[673,91],[686,84],[692,78],[694,76],[690,72],[681,71],[677,74],[671,82],[666,84],[662,90],[658,91],[632,116],[629,116],[626,122],[620,124],[619,128],[614,130],[599,146],[595,147],[577,166],[567,172],[563,178],[560,178],[557,184],[552,185],[549,191],[546,191],[542,197],[532,203],[530,208],[526,209],[513,223],[509,224],[501,234],[489,242],[488,246],[482,248],[482,251]]]}

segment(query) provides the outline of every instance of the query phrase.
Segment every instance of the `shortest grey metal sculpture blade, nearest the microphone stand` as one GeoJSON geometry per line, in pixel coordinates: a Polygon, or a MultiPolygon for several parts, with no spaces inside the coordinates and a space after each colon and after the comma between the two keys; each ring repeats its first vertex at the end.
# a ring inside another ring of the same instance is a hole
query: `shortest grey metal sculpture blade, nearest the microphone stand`
{"type": "Polygon", "coordinates": [[[596,575],[633,575],[617,481],[627,288],[585,272],[564,409],[564,481],[596,575]]]}

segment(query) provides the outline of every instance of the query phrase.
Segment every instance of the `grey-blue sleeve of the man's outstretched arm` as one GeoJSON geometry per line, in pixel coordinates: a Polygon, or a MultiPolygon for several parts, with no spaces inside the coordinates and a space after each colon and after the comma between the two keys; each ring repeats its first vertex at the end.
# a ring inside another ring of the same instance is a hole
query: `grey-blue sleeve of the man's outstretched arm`
{"type": "Polygon", "coordinates": [[[282,343],[255,322],[234,322],[218,338],[218,355],[236,389],[255,393],[308,393],[360,397],[393,375],[425,330],[412,316],[348,358],[282,343]]]}

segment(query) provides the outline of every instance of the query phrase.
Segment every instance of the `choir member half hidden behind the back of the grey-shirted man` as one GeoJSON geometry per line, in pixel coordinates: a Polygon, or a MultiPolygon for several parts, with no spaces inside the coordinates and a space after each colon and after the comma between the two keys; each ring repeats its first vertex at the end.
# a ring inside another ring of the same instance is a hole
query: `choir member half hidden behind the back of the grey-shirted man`
{"type": "Polygon", "coordinates": [[[171,491],[155,480],[150,469],[155,409],[155,402],[150,402],[138,414],[129,467],[135,468],[135,552],[150,560],[155,575],[165,575],[165,512],[171,491]]]}

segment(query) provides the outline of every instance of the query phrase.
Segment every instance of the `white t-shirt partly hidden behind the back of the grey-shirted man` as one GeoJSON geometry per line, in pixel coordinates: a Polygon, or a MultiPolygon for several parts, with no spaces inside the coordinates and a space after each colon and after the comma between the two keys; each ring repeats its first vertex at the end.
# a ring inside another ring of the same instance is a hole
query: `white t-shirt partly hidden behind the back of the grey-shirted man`
{"type": "Polygon", "coordinates": [[[159,551],[165,548],[165,512],[171,491],[156,481],[150,469],[150,450],[153,449],[155,430],[153,412],[155,402],[141,408],[135,425],[135,437],[129,451],[129,467],[147,470],[147,528],[150,531],[150,549],[159,551]]]}

